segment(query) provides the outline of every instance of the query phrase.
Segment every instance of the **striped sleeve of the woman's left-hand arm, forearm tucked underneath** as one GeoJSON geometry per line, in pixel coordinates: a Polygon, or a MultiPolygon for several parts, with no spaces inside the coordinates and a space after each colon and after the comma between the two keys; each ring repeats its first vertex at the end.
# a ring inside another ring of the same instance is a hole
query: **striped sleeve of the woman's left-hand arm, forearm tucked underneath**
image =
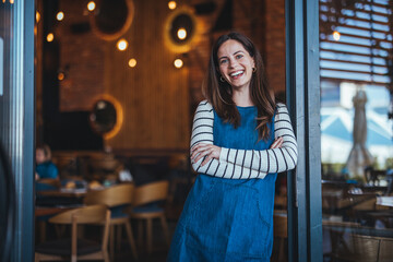
{"type": "MultiPolygon", "coordinates": [[[[213,144],[213,123],[214,112],[213,107],[206,100],[200,103],[196,108],[190,148],[198,143],[213,144]]],[[[266,172],[252,170],[243,167],[242,165],[235,165],[228,162],[218,162],[217,159],[211,159],[204,166],[201,166],[203,158],[198,163],[192,163],[192,168],[200,174],[206,174],[214,177],[228,178],[228,179],[251,179],[251,178],[264,178],[266,172]]]]}

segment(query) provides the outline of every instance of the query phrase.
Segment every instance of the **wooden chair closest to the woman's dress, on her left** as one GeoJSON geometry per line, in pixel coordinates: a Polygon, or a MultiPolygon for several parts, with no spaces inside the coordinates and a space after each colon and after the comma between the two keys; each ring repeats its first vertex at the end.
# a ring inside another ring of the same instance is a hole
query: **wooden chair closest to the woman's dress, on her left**
{"type": "Polygon", "coordinates": [[[152,203],[165,201],[168,196],[168,181],[158,181],[135,188],[131,217],[139,219],[139,241],[142,242],[143,221],[146,221],[146,246],[147,253],[152,253],[153,247],[153,219],[159,218],[163,226],[165,240],[169,246],[169,231],[164,209],[152,203]]]}

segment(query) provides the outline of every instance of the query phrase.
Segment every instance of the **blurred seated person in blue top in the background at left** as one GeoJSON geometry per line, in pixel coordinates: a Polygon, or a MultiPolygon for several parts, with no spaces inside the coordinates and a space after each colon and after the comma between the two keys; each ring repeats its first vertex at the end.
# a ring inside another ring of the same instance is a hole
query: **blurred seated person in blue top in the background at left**
{"type": "Polygon", "coordinates": [[[59,171],[55,164],[51,162],[51,153],[48,145],[41,145],[36,148],[36,174],[37,181],[36,189],[56,189],[53,184],[40,182],[40,179],[59,179],[59,171]]]}

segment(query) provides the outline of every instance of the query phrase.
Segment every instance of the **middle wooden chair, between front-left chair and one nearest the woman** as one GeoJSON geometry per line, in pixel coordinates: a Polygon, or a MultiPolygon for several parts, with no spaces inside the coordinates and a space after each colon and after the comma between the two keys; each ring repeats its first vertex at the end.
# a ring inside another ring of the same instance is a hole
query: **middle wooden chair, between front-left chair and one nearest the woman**
{"type": "Polygon", "coordinates": [[[109,230],[109,253],[111,261],[115,258],[115,227],[118,227],[118,248],[120,248],[121,226],[126,227],[127,237],[134,259],[138,259],[135,241],[132,234],[130,214],[124,213],[123,209],[132,204],[134,193],[133,183],[117,184],[104,190],[88,191],[84,204],[104,204],[111,211],[109,230]]]}

